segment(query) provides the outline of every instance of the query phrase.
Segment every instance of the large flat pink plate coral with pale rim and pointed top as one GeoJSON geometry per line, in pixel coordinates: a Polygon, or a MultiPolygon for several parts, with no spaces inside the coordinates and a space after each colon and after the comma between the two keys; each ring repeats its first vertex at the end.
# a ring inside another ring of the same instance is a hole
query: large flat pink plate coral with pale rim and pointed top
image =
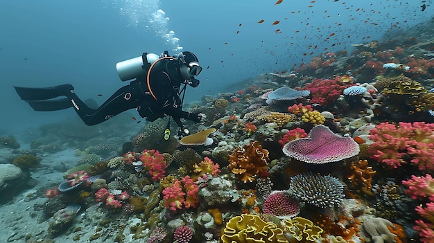
{"type": "Polygon", "coordinates": [[[284,154],[306,163],[330,163],[355,156],[358,144],[351,137],[342,137],[331,132],[329,127],[316,125],[306,138],[286,143],[284,154]]]}

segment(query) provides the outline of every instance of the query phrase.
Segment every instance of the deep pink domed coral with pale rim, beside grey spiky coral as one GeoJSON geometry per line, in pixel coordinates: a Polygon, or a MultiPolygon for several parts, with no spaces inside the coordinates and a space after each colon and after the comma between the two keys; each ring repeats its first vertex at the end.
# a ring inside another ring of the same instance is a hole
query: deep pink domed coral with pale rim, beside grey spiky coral
{"type": "Polygon", "coordinates": [[[277,217],[295,217],[300,213],[297,200],[290,197],[286,191],[274,191],[263,202],[263,213],[277,217]]]}

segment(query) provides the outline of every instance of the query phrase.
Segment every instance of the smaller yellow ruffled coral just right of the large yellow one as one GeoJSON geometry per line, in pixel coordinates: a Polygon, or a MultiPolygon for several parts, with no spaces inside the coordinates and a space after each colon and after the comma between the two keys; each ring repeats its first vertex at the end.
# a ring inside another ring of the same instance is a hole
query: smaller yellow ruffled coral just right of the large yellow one
{"type": "Polygon", "coordinates": [[[315,240],[320,239],[323,232],[322,228],[304,217],[285,219],[285,231],[298,242],[315,242],[315,240]]]}

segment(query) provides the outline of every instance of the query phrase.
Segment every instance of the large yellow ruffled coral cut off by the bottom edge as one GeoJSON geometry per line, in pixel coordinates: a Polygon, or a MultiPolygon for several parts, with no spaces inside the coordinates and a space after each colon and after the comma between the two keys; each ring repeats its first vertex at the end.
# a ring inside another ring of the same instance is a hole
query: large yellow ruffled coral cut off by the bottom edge
{"type": "Polygon", "coordinates": [[[227,222],[220,240],[223,243],[288,243],[283,231],[276,224],[265,222],[258,215],[245,214],[233,217],[227,222]]]}

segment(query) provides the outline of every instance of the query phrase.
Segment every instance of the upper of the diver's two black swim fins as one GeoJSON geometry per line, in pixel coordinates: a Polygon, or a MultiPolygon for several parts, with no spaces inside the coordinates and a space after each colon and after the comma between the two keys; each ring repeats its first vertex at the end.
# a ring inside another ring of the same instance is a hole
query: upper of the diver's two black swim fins
{"type": "Polygon", "coordinates": [[[14,88],[15,91],[17,91],[19,97],[21,97],[21,100],[26,101],[48,100],[58,96],[66,96],[68,92],[71,92],[71,90],[73,90],[73,86],[71,84],[62,84],[55,87],[46,88],[26,88],[16,86],[14,86],[14,88]]]}

